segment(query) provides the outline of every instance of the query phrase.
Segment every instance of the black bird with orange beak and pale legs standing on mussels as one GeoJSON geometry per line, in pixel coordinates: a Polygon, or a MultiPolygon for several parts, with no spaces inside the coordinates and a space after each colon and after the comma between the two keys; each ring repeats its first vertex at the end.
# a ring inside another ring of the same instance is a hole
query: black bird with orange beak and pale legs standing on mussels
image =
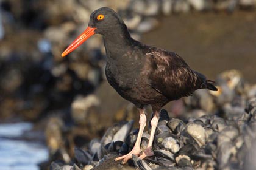
{"type": "Polygon", "coordinates": [[[90,15],[84,30],[62,53],[68,55],[90,36],[102,35],[106,52],[105,75],[121,97],[133,103],[140,114],[139,131],[133,149],[115,158],[125,164],[132,155],[141,159],[154,155],[152,143],[165,104],[193,94],[197,89],[217,91],[214,81],[191,69],[177,53],[148,46],[130,36],[123,19],[114,10],[101,7],[90,15]],[[146,126],[146,107],[152,108],[151,134],[147,148],[140,143],[146,126]]]}

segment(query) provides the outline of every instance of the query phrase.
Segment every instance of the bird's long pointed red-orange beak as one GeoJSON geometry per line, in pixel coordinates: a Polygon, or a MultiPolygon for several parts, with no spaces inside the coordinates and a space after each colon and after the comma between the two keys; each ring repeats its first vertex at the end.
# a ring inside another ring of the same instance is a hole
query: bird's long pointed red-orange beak
{"type": "Polygon", "coordinates": [[[84,30],[83,33],[81,33],[75,41],[73,41],[68,48],[62,53],[62,57],[68,55],[69,53],[73,52],[74,49],[79,47],[81,44],[83,44],[90,36],[94,35],[94,30],[96,28],[87,27],[87,29],[84,30]]]}

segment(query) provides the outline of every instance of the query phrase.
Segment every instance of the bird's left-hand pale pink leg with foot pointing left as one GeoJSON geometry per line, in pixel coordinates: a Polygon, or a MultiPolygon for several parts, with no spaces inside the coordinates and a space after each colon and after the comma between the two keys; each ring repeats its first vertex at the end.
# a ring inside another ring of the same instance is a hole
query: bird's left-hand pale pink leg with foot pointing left
{"type": "Polygon", "coordinates": [[[138,132],[138,137],[137,137],[137,140],[135,142],[135,145],[133,146],[132,151],[130,151],[128,154],[123,155],[123,156],[118,157],[118,158],[115,159],[115,161],[123,160],[122,164],[126,163],[130,158],[132,158],[132,155],[137,155],[138,156],[141,153],[140,143],[141,143],[141,137],[142,137],[144,128],[146,126],[147,117],[146,117],[144,109],[138,109],[138,110],[140,112],[140,121],[139,121],[140,129],[139,129],[139,132],[138,132]]]}

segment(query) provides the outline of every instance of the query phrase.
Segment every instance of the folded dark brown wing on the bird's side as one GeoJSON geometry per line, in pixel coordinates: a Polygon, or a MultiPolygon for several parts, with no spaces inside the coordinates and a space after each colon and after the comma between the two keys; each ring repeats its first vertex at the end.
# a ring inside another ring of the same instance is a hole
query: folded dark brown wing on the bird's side
{"type": "Polygon", "coordinates": [[[191,95],[202,84],[179,55],[162,49],[155,48],[146,53],[143,70],[149,86],[171,100],[191,95]]]}

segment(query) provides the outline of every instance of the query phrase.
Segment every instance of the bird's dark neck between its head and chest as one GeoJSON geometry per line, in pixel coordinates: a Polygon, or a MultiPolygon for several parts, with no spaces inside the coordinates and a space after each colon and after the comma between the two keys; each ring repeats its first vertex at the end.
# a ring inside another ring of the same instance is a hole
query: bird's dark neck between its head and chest
{"type": "Polygon", "coordinates": [[[103,41],[107,56],[112,58],[119,57],[132,48],[135,40],[132,39],[127,30],[126,25],[113,29],[113,31],[105,32],[103,41]]]}

